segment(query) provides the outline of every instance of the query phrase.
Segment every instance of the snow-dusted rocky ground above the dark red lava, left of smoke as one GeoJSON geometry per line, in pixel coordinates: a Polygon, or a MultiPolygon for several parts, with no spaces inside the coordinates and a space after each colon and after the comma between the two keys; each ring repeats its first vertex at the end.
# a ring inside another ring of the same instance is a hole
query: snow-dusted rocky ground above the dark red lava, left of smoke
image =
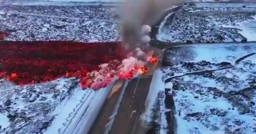
{"type": "Polygon", "coordinates": [[[113,6],[8,5],[0,8],[0,31],[13,41],[116,41],[117,18],[113,6]]]}

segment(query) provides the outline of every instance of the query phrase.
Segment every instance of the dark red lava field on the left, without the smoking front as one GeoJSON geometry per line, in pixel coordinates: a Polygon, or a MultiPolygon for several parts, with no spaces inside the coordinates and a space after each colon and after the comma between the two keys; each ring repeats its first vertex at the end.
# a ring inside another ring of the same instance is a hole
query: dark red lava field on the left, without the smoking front
{"type": "Polygon", "coordinates": [[[123,59],[117,42],[2,41],[0,49],[0,78],[18,85],[85,77],[102,63],[123,59]]]}

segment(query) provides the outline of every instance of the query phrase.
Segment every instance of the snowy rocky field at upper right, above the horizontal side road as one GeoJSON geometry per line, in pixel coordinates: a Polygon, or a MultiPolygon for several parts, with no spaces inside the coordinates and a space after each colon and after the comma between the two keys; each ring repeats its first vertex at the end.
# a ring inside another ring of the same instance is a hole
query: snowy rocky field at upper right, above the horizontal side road
{"type": "Polygon", "coordinates": [[[196,3],[166,17],[157,39],[168,42],[256,41],[256,4],[196,3]],[[245,7],[243,7],[245,6],[245,7]]]}

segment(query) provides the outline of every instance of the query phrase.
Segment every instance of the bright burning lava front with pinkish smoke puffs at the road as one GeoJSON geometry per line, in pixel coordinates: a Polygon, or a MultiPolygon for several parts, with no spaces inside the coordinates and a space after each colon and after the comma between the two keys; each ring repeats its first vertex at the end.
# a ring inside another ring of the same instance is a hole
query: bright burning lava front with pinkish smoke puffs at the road
{"type": "MultiPolygon", "coordinates": [[[[150,62],[156,62],[157,58],[152,57],[150,62]]],[[[130,80],[148,71],[146,62],[142,62],[134,57],[129,57],[122,61],[122,64],[101,64],[99,71],[87,73],[86,77],[81,78],[80,85],[83,88],[99,89],[106,87],[114,79],[130,80]]]]}

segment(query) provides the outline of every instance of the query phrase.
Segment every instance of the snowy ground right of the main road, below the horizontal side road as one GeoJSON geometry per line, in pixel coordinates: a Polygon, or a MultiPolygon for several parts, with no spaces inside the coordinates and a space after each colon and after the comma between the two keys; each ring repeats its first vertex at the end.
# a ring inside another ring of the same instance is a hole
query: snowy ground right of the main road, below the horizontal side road
{"type": "Polygon", "coordinates": [[[173,64],[163,69],[163,79],[174,100],[177,134],[256,132],[255,52],[255,43],[167,51],[173,64]],[[171,58],[177,53],[181,59],[171,58]]]}

